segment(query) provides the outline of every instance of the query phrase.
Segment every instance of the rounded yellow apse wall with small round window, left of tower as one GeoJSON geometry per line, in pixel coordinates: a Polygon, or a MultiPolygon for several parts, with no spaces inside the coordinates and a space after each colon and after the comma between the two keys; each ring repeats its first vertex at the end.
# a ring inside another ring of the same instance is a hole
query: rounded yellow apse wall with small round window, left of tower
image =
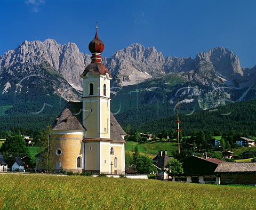
{"type": "Polygon", "coordinates": [[[82,165],[77,168],[77,157],[83,159],[82,139],[83,133],[51,135],[50,157],[53,169],[82,172],[82,165]],[[57,155],[57,149],[61,150],[60,155],[57,155]],[[57,168],[58,163],[61,163],[61,168],[57,168]]]}

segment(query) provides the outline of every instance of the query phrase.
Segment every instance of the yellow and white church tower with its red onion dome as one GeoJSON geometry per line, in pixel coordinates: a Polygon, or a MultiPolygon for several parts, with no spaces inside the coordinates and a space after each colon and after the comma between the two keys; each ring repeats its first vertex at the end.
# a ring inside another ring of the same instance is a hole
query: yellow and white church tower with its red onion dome
{"type": "Polygon", "coordinates": [[[96,34],[89,44],[92,62],[85,68],[83,78],[83,124],[86,138],[110,139],[110,80],[107,67],[102,63],[104,44],[96,34]]]}

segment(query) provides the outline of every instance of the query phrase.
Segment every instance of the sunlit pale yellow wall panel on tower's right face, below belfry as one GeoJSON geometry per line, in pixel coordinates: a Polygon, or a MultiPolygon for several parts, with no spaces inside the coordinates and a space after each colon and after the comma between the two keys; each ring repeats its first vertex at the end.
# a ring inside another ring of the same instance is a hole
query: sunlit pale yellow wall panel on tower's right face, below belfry
{"type": "Polygon", "coordinates": [[[101,138],[110,138],[108,101],[101,101],[101,138]],[[106,130],[105,130],[106,129],[106,130]]]}

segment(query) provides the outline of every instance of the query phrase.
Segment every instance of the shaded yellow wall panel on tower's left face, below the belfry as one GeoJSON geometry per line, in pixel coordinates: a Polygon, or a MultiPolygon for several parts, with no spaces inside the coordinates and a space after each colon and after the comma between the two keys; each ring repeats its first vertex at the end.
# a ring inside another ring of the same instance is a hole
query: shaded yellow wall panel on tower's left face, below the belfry
{"type": "Polygon", "coordinates": [[[98,102],[85,102],[85,127],[87,130],[87,137],[98,136],[98,102]],[[92,112],[90,112],[92,109],[92,112]]]}

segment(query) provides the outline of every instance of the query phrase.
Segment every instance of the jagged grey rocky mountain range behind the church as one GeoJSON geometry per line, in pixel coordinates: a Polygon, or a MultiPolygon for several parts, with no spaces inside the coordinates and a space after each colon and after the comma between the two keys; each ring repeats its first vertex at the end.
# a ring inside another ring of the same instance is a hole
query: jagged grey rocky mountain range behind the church
{"type": "MultiPolygon", "coordinates": [[[[43,114],[44,107],[57,115],[63,99],[80,99],[79,75],[90,57],[74,43],[53,39],[25,41],[7,51],[0,56],[0,113],[43,114]]],[[[150,106],[156,113],[159,106],[174,109],[179,103],[192,113],[256,97],[256,66],[241,68],[238,57],[224,47],[199,52],[195,59],[165,58],[155,47],[135,43],[102,62],[113,76],[111,105],[117,118],[124,112],[138,116],[150,106]]]]}

